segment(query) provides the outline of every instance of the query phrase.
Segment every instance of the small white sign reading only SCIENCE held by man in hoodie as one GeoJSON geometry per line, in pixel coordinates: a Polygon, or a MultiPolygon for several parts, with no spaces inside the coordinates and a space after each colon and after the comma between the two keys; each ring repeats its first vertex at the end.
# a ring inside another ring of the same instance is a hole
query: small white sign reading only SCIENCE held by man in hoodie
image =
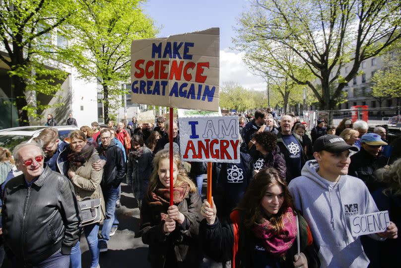
{"type": "Polygon", "coordinates": [[[354,215],[349,217],[352,236],[382,233],[390,225],[389,211],[354,215]]]}

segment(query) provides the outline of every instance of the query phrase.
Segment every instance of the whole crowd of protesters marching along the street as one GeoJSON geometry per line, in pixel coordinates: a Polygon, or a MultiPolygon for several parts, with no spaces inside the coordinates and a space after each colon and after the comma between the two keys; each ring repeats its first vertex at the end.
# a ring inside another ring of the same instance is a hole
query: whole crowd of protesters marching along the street
{"type": "MultiPolygon", "coordinates": [[[[67,123],[77,125],[72,114],[67,123]]],[[[209,203],[202,201],[205,163],[182,162],[177,123],[171,206],[163,117],[93,122],[62,141],[49,114],[49,127],[33,141],[12,154],[0,147],[1,263],[7,256],[13,267],[80,268],[83,232],[90,267],[100,267],[126,182],[155,268],[199,267],[204,257],[233,268],[397,264],[401,142],[389,145],[385,128],[367,133],[365,121],[344,118],[335,127],[319,118],[308,131],[298,117],[278,120],[271,108],[240,114],[240,162],[213,163],[209,203]],[[14,177],[15,170],[22,174],[14,177]],[[85,222],[81,202],[98,199],[98,220],[85,222]],[[385,232],[352,236],[349,216],[379,210],[390,214],[385,232]]]]}

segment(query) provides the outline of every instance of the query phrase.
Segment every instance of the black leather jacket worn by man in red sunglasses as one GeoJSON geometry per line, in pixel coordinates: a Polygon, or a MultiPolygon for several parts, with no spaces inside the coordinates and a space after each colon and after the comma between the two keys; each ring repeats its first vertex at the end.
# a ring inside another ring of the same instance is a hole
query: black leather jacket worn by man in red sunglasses
{"type": "Polygon", "coordinates": [[[21,174],[4,187],[2,225],[8,253],[25,266],[36,265],[54,253],[64,255],[80,237],[81,217],[71,182],[46,167],[27,186],[21,174]]]}

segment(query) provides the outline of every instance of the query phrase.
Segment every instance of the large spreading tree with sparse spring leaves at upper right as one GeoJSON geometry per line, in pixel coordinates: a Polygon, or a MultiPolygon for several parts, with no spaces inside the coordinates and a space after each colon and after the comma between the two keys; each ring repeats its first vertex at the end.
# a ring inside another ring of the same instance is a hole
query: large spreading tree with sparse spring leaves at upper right
{"type": "Polygon", "coordinates": [[[321,109],[334,110],[361,62],[401,37],[400,10],[396,0],[254,0],[239,19],[234,41],[241,51],[265,51],[277,62],[277,51],[292,51],[303,63],[299,68],[313,77],[302,72],[289,72],[289,77],[308,86],[321,109]],[[349,71],[341,74],[346,64],[349,71]]]}

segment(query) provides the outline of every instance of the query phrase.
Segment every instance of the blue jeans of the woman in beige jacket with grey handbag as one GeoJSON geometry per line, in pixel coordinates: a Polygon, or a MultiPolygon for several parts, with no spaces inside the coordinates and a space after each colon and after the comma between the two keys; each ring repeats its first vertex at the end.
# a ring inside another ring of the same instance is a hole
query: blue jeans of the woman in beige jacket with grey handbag
{"type": "MultiPolygon", "coordinates": [[[[86,241],[88,242],[89,252],[91,256],[91,268],[96,268],[99,264],[99,241],[97,234],[99,232],[99,223],[85,225],[83,227],[86,241]]],[[[71,268],[81,268],[81,249],[79,248],[79,241],[71,249],[71,255],[69,256],[71,262],[71,268]]]]}

